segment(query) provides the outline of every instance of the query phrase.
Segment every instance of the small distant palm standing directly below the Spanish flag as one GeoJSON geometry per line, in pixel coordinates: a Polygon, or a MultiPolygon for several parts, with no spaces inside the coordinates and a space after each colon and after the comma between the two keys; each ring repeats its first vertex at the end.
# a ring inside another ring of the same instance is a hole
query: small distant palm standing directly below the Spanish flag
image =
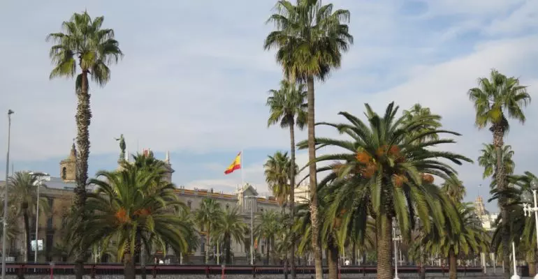
{"type": "Polygon", "coordinates": [[[226,209],[222,213],[219,222],[215,225],[213,231],[214,237],[222,239],[226,250],[226,264],[231,264],[231,240],[241,243],[245,240],[245,231],[247,224],[239,215],[239,208],[236,206],[233,209],[226,209]]]}

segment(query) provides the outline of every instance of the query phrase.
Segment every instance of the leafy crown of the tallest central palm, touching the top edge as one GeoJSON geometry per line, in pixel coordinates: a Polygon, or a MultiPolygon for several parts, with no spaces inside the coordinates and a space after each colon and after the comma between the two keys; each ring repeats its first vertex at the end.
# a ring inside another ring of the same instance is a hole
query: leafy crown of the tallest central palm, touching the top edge
{"type": "Polygon", "coordinates": [[[267,36],[263,47],[277,48],[277,61],[282,64],[286,77],[323,80],[330,68],[340,67],[341,51],[353,43],[349,27],[349,10],[334,10],[333,4],[321,0],[278,1],[277,13],[267,22],[275,24],[277,31],[267,36]]]}

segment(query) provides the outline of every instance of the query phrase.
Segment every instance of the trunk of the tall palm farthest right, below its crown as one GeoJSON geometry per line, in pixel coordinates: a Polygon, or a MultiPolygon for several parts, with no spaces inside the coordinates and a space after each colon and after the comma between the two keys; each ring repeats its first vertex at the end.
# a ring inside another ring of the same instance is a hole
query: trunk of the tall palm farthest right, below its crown
{"type": "MultiPolygon", "coordinates": [[[[495,181],[497,182],[497,189],[502,191],[505,188],[505,176],[504,165],[502,164],[502,146],[504,145],[504,128],[499,124],[494,124],[493,131],[493,146],[495,146],[495,152],[497,153],[497,165],[495,169],[495,181]]],[[[508,210],[506,208],[506,199],[503,195],[499,198],[499,204],[501,208],[501,245],[502,245],[502,259],[505,263],[510,262],[510,232],[508,229],[508,210]]],[[[504,278],[510,278],[510,264],[504,264],[504,278]]]]}

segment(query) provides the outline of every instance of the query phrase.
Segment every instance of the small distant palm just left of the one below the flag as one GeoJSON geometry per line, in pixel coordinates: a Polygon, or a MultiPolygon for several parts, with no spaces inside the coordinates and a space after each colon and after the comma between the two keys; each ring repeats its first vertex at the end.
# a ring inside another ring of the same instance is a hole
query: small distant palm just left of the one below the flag
{"type": "Polygon", "coordinates": [[[219,217],[222,214],[220,204],[215,199],[206,197],[202,200],[200,208],[194,213],[194,220],[201,232],[205,232],[205,263],[209,262],[209,243],[213,229],[219,222],[219,217]]]}

